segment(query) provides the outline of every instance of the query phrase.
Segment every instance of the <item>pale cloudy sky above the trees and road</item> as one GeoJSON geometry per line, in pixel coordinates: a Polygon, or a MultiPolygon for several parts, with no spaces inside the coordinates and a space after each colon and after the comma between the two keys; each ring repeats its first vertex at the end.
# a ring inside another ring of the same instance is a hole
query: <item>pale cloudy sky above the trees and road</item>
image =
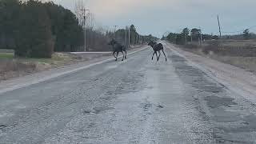
{"type": "MultiPolygon", "coordinates": [[[[76,0],[55,0],[74,10],[76,0]]],[[[183,27],[201,27],[217,34],[219,14],[222,31],[240,31],[256,26],[256,0],[84,0],[98,26],[134,24],[141,34],[161,37],[183,27]]],[[[256,27],[251,31],[256,32],[256,27]]]]}

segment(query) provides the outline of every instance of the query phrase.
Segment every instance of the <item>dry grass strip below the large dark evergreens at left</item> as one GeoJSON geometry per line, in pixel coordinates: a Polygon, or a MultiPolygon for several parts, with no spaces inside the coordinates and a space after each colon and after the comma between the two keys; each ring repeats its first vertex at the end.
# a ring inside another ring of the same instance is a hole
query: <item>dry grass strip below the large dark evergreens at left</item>
{"type": "Polygon", "coordinates": [[[55,53],[52,58],[0,57],[0,81],[78,62],[73,54],[55,53]]]}

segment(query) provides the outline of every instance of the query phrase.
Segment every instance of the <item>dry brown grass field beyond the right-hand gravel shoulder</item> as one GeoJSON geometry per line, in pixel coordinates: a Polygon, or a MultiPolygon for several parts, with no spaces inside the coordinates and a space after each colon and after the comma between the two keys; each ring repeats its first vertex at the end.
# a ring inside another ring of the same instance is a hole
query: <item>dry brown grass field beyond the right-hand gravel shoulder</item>
{"type": "Polygon", "coordinates": [[[256,72],[255,40],[227,40],[223,42],[223,49],[218,45],[218,42],[206,42],[204,46],[190,45],[182,49],[256,72]]]}

